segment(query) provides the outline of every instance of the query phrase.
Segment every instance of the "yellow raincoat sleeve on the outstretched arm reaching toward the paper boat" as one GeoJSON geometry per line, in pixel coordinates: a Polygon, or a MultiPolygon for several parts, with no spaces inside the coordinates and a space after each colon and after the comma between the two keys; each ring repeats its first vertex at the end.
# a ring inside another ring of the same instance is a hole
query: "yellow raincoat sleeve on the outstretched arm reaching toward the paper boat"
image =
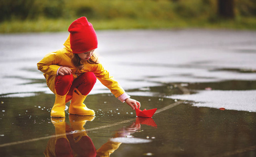
{"type": "Polygon", "coordinates": [[[102,64],[95,64],[94,68],[92,69],[95,76],[98,80],[106,87],[108,87],[111,93],[115,97],[119,97],[123,93],[125,93],[124,89],[119,85],[117,81],[114,80],[113,76],[109,74],[108,71],[104,70],[102,64]]]}

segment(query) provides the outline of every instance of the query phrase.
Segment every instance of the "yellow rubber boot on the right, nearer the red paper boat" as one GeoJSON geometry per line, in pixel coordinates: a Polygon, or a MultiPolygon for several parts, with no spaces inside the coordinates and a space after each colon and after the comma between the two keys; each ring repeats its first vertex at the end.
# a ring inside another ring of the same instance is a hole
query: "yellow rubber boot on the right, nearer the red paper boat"
{"type": "Polygon", "coordinates": [[[82,95],[77,88],[74,88],[71,104],[69,106],[69,114],[94,116],[94,110],[87,108],[86,105],[83,104],[86,97],[87,95],[82,95]]]}

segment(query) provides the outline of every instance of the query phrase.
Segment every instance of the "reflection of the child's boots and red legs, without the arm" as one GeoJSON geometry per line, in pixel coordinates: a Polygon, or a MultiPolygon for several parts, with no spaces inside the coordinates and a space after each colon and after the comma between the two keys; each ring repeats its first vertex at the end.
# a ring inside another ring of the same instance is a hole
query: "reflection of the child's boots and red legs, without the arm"
{"type": "Polygon", "coordinates": [[[51,118],[51,122],[55,126],[55,137],[50,138],[47,142],[45,156],[95,157],[97,152],[94,144],[83,128],[87,121],[93,119],[94,116],[69,115],[69,126],[66,124],[65,118],[51,118]]]}

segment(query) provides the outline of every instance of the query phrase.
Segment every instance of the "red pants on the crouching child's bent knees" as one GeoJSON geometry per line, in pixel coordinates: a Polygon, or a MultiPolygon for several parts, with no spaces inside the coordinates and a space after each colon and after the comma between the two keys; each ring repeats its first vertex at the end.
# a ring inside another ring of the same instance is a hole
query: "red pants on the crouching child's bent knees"
{"type": "Polygon", "coordinates": [[[58,95],[66,95],[68,93],[67,97],[69,98],[72,98],[74,88],[77,88],[82,95],[88,95],[96,80],[93,72],[83,73],[74,80],[73,75],[58,75],[55,78],[55,90],[58,95]]]}

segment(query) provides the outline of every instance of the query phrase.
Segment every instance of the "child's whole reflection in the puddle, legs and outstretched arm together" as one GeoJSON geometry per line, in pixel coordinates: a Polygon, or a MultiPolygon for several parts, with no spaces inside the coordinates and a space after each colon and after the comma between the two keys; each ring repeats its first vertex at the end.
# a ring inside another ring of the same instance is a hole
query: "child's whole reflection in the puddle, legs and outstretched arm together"
{"type": "MultiPolygon", "coordinates": [[[[47,147],[44,151],[45,156],[110,156],[122,143],[109,140],[96,150],[91,138],[84,130],[86,122],[93,119],[94,116],[69,115],[70,125],[68,125],[65,122],[65,118],[51,118],[51,122],[55,127],[55,137],[50,138],[47,142],[47,147]]],[[[129,136],[136,130],[140,130],[140,128],[140,124],[133,122],[132,125],[116,131],[113,138],[129,136]]]]}

